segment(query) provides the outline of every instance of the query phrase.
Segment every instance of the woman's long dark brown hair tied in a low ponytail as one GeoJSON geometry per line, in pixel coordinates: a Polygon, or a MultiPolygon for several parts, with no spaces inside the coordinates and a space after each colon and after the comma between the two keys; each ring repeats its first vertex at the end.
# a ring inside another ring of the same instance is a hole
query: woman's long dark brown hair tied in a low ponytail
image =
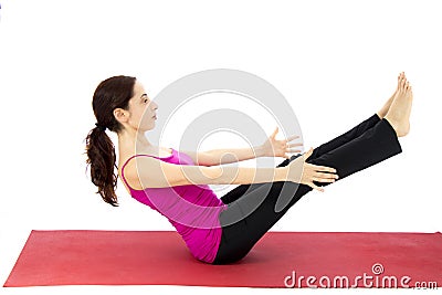
{"type": "MultiPolygon", "coordinates": [[[[117,186],[118,173],[114,173],[116,155],[115,146],[106,131],[101,126],[110,131],[119,133],[123,125],[114,117],[115,108],[128,109],[129,99],[134,96],[134,85],[136,77],[113,76],[101,82],[95,89],[92,108],[99,126],[93,128],[86,136],[86,164],[91,165],[91,180],[98,187],[102,199],[117,207],[117,186]]],[[[87,166],[86,166],[87,170],[87,166]]]]}

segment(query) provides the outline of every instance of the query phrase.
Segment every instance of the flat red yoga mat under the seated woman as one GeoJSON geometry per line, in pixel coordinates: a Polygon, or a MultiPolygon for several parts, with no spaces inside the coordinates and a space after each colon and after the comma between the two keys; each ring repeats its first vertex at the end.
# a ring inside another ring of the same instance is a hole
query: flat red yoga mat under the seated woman
{"type": "Polygon", "coordinates": [[[417,284],[442,286],[440,232],[267,232],[242,261],[211,265],[173,231],[32,231],[4,286],[417,284]]]}

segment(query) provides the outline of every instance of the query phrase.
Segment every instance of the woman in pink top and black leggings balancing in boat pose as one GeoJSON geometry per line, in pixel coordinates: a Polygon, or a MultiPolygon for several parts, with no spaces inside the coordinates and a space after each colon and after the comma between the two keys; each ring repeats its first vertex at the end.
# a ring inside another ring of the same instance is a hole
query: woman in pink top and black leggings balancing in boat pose
{"type": "Polygon", "coordinates": [[[105,202],[117,206],[116,155],[108,128],[118,135],[118,175],[133,198],[165,215],[199,261],[227,264],[243,259],[287,210],[313,189],[402,152],[398,137],[409,133],[412,91],[404,73],[381,109],[347,133],[301,151],[276,140],[255,149],[179,151],[156,147],[145,136],[155,128],[156,109],[143,85],[129,76],[103,81],[93,96],[96,127],[86,137],[92,182],[105,202]],[[136,155],[133,155],[137,150],[136,155]],[[275,168],[222,167],[236,160],[285,157],[275,168]],[[208,185],[241,185],[218,198],[208,185]],[[178,196],[178,197],[177,197],[178,196]],[[281,204],[282,203],[282,204],[281,204]]]}

